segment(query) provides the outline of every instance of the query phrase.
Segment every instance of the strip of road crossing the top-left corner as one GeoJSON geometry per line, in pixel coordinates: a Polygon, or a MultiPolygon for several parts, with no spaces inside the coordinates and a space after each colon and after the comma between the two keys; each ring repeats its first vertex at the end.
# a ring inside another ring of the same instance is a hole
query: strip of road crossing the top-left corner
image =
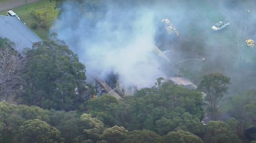
{"type": "MultiPolygon", "coordinates": [[[[27,4],[38,2],[38,1],[40,0],[27,0],[27,4]]],[[[9,1],[5,3],[0,2],[0,12],[13,9],[19,6],[23,6],[23,5],[25,5],[25,0],[13,0],[11,2],[9,1]]]]}

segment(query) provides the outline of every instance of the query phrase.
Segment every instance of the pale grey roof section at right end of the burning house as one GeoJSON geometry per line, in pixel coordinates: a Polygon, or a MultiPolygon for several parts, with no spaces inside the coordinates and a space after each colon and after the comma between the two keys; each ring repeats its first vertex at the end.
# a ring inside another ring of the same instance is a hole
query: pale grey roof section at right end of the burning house
{"type": "Polygon", "coordinates": [[[169,79],[178,85],[184,85],[188,89],[197,89],[197,86],[193,82],[183,76],[170,77],[169,79]]]}

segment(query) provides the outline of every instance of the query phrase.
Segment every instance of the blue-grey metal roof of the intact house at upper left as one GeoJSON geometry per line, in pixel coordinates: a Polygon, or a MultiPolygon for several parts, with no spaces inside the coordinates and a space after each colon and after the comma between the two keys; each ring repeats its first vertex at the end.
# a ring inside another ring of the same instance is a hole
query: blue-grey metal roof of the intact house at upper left
{"type": "Polygon", "coordinates": [[[0,15],[0,37],[15,43],[12,48],[19,52],[24,48],[31,48],[34,42],[42,41],[22,21],[4,15],[0,15]]]}

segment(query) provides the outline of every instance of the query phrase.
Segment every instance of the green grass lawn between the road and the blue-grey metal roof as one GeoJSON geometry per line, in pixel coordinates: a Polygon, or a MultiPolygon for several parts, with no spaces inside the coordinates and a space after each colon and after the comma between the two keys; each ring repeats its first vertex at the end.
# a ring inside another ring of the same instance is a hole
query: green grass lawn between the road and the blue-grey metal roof
{"type": "MultiPolygon", "coordinates": [[[[7,1],[7,0],[1,0],[1,2],[2,1],[7,1]]],[[[36,22],[36,19],[32,17],[32,14],[30,13],[30,11],[46,8],[46,7],[49,7],[50,5],[55,5],[55,2],[50,2],[49,0],[41,0],[39,2],[28,4],[27,6],[17,7],[12,10],[14,10],[22,19],[22,21],[25,22],[29,28],[31,28],[31,23],[36,22]]],[[[6,15],[6,12],[1,12],[0,14],[6,15]]],[[[39,25],[37,26],[36,29],[31,28],[31,30],[44,40],[48,38],[49,31],[46,30],[45,28],[40,27],[39,25]]]]}

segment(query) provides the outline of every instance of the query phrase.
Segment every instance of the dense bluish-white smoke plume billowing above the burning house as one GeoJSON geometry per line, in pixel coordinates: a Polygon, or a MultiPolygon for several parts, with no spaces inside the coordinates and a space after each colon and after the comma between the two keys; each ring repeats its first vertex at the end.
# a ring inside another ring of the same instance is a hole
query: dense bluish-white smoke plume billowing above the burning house
{"type": "Polygon", "coordinates": [[[90,63],[89,74],[97,72],[104,77],[114,73],[126,87],[151,87],[156,78],[163,77],[160,60],[153,49],[155,13],[143,7],[105,6],[104,16],[92,24],[88,16],[74,13],[78,5],[66,3],[52,31],[57,32],[86,65],[90,63]],[[77,15],[80,18],[70,21],[70,17],[77,15]]]}

